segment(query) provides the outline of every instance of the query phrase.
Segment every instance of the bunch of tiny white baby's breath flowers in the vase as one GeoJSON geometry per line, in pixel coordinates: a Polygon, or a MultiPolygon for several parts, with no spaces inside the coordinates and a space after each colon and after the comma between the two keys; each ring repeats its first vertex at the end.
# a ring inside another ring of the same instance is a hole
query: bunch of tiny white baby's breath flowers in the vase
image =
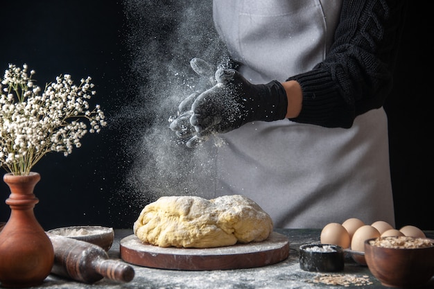
{"type": "Polygon", "coordinates": [[[42,91],[31,79],[35,71],[27,71],[26,64],[9,64],[0,81],[0,164],[15,175],[28,175],[48,152],[71,154],[87,132],[107,125],[99,105],[89,110],[92,78],[77,86],[71,75],[60,75],[42,91]]]}

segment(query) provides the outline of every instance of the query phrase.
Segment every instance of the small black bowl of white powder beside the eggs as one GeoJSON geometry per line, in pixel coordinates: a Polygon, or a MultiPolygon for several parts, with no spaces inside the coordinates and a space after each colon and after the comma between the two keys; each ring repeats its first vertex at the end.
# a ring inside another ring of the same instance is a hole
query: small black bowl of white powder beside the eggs
{"type": "Polygon", "coordinates": [[[338,245],[306,244],[300,246],[299,253],[302,270],[337,272],[344,269],[345,252],[338,245]]]}

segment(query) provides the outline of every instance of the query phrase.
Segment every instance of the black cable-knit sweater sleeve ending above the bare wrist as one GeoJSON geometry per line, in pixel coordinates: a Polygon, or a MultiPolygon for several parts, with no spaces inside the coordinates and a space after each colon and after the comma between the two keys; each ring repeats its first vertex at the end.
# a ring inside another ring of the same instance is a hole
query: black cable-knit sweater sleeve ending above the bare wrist
{"type": "Polygon", "coordinates": [[[356,116],[383,105],[392,89],[405,2],[343,1],[324,61],[288,78],[303,92],[302,111],[291,121],[350,128],[356,116]]]}

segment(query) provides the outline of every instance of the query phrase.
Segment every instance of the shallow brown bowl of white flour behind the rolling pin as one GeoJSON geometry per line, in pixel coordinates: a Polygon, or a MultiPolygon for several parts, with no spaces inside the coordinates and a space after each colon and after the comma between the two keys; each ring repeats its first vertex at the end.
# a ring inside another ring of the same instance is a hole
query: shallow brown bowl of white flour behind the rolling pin
{"type": "Polygon", "coordinates": [[[108,251],[112,247],[114,240],[114,230],[109,227],[101,226],[73,226],[52,229],[51,234],[82,240],[92,243],[108,251]]]}

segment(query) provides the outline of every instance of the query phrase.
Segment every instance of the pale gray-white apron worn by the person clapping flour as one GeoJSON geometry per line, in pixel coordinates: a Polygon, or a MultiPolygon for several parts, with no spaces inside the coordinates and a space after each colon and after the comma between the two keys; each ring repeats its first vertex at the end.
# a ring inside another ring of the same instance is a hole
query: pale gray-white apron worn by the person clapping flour
{"type": "MultiPolygon", "coordinates": [[[[284,81],[324,59],[340,13],[332,0],[214,0],[214,23],[254,83],[284,81]]],[[[394,226],[387,119],[372,110],[350,129],[257,121],[221,135],[214,195],[242,194],[275,227],[322,228],[360,218],[394,226]]]]}

